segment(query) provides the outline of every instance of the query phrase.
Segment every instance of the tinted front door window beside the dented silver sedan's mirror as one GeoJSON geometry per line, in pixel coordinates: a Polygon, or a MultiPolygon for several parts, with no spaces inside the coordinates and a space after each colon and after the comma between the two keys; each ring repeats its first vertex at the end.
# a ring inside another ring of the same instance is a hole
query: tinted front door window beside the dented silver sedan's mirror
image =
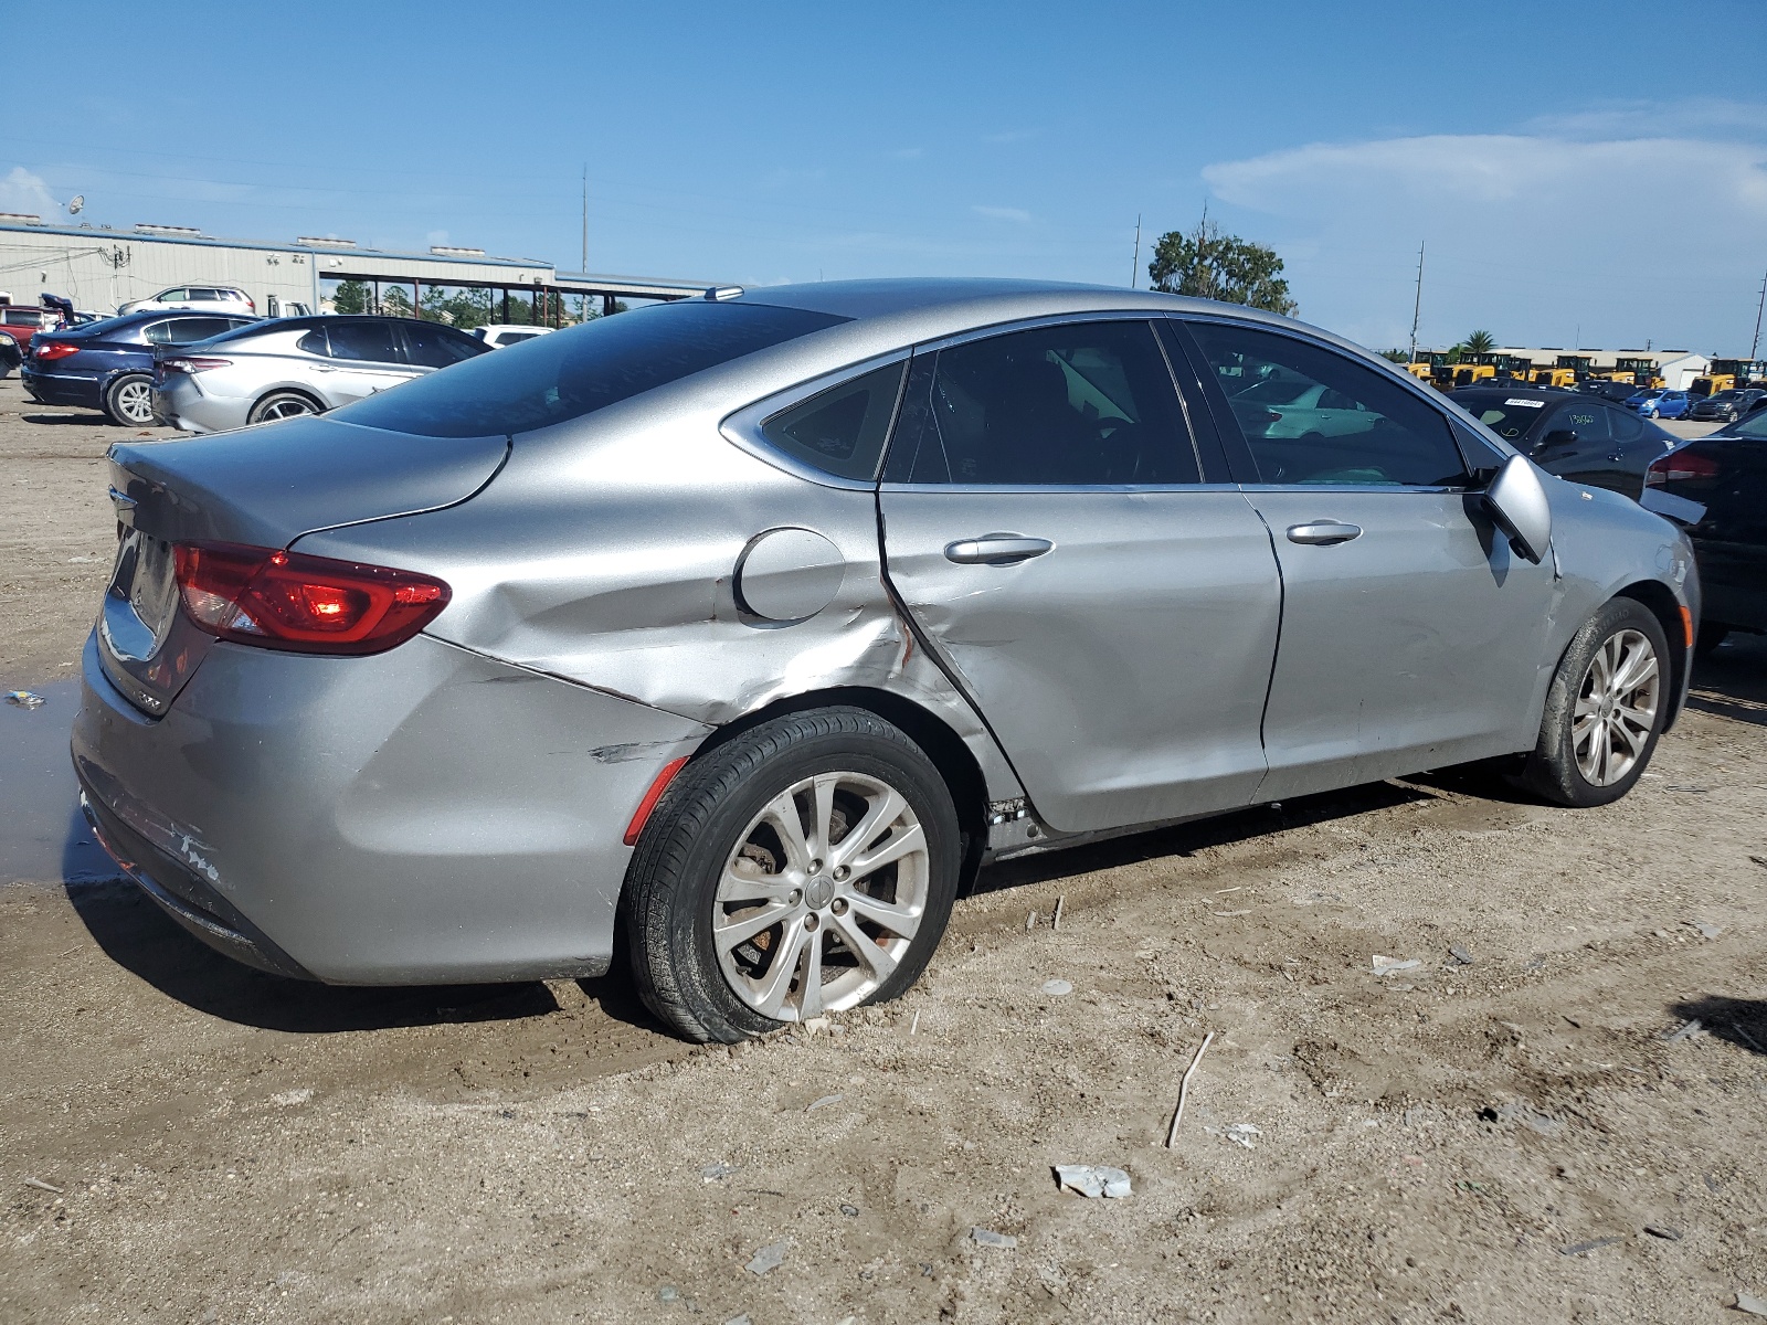
{"type": "Polygon", "coordinates": [[[1279,332],[1191,323],[1267,484],[1451,488],[1447,419],[1348,355],[1279,332]]]}

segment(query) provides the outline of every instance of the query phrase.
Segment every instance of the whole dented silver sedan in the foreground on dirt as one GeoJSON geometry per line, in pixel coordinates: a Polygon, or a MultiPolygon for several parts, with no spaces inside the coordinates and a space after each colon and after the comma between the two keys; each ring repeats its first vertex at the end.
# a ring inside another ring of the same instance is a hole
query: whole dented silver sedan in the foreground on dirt
{"type": "Polygon", "coordinates": [[[618,942],[693,1039],[903,993],[988,860],[1470,761],[1612,802],[1700,611],[1384,360],[1124,290],[709,292],[111,458],[74,763],[140,887],[330,982],[618,942]]]}

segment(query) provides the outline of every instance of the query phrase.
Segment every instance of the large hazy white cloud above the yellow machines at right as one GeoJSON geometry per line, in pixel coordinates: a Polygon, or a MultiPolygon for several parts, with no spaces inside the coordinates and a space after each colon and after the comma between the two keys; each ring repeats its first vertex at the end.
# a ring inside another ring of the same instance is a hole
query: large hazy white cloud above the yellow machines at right
{"type": "Polygon", "coordinates": [[[1426,240],[1426,343],[1479,325],[1507,343],[1712,350],[1742,336],[1748,350],[1742,306],[1753,325],[1746,295],[1767,260],[1763,141],[1435,134],[1313,143],[1203,180],[1292,226],[1230,224],[1276,244],[1309,320],[1368,343],[1408,336],[1426,240]]]}

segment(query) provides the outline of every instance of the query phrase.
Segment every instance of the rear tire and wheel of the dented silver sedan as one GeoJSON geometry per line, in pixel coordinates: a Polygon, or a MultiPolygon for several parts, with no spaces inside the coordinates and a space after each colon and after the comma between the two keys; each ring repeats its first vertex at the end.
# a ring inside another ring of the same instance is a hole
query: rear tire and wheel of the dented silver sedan
{"type": "Polygon", "coordinates": [[[689,763],[626,876],[645,1005],[691,1041],[887,1002],[938,947],[961,834],[938,768],[864,708],[763,723],[689,763]]]}

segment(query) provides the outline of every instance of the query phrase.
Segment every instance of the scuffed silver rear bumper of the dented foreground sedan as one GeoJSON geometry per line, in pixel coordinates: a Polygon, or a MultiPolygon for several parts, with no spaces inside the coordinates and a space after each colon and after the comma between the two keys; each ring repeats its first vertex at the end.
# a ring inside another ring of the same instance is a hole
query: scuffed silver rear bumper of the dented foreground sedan
{"type": "Polygon", "coordinates": [[[705,731],[428,636],[357,659],[221,643],[152,719],[88,640],[72,756],[113,855],[210,947],[431,984],[604,972],[626,823],[705,731]]]}

